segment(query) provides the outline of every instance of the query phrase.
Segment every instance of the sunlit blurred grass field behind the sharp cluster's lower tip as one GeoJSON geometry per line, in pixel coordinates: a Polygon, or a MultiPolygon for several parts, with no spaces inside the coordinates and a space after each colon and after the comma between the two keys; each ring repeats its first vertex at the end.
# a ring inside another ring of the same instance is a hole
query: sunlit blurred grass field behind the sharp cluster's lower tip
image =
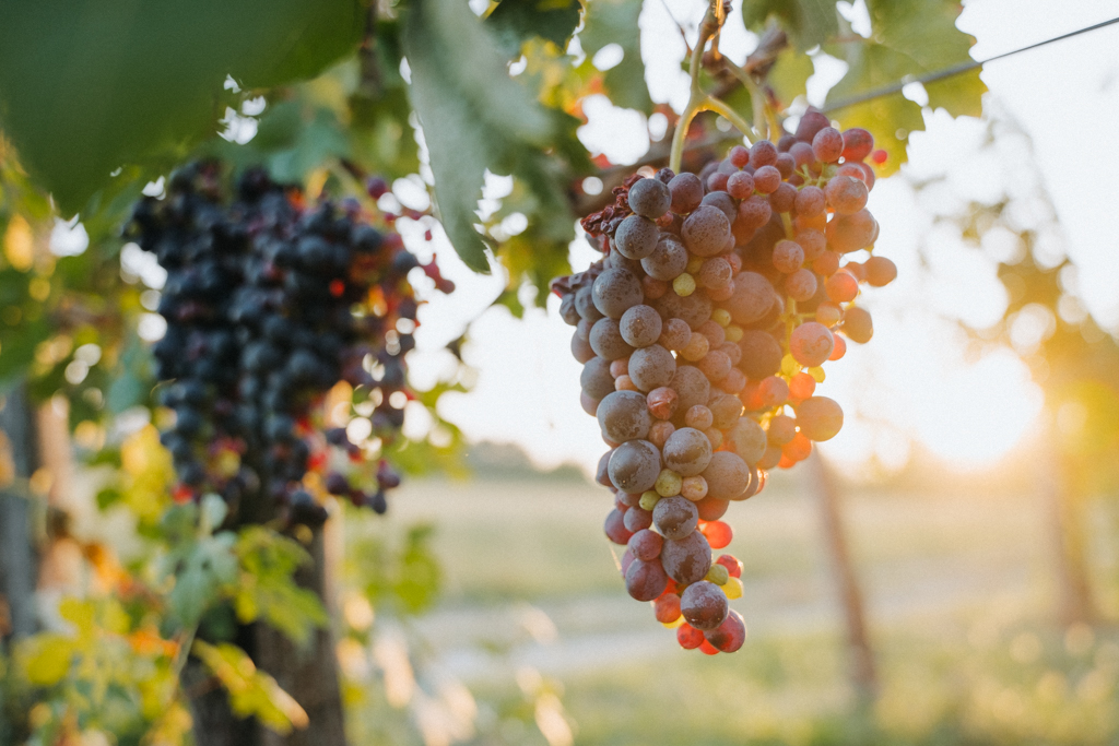
{"type": "MultiPolygon", "coordinates": [[[[576,744],[1119,743],[1119,634],[1055,623],[1041,493],[845,490],[881,680],[863,707],[803,479],[780,475],[728,513],[750,630],[734,655],[681,651],[626,595],[601,531],[610,495],[571,478],[403,488],[392,525],[434,522],[445,570],[416,630],[485,702],[481,720],[523,707],[517,681],[538,673],[576,744]]],[[[1093,561],[1107,602],[1110,555],[1093,561]]],[[[488,733],[477,743],[545,743],[513,718],[488,733]]]]}

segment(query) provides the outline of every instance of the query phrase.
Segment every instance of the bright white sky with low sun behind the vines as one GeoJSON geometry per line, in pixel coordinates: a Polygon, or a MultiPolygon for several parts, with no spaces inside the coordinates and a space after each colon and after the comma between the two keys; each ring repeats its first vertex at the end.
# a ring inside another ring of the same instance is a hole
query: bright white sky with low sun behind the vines
{"type": "MultiPolygon", "coordinates": [[[[687,76],[678,67],[685,47],[676,22],[694,39],[705,7],[704,0],[646,0],[642,8],[650,93],[677,111],[687,98],[687,76]]],[[[862,0],[850,7],[856,30],[865,13],[862,0]]],[[[1116,16],[1119,0],[971,0],[958,26],[977,38],[971,54],[984,59],[1116,16]]],[[[721,49],[741,62],[755,44],[741,16],[732,13],[721,49]]],[[[843,72],[843,63],[818,58],[807,103],[821,103],[843,72]]],[[[1002,315],[1005,294],[995,264],[938,229],[937,213],[995,198],[1006,185],[1029,193],[1040,183],[1061,224],[1060,232],[1050,232],[1053,256],[1072,257],[1084,305],[1104,325],[1119,327],[1119,182],[1108,176],[1119,170],[1119,25],[991,63],[981,77],[990,89],[985,110],[999,112],[1025,134],[1012,132],[995,149],[984,149],[984,122],[925,108],[927,131],[911,136],[909,163],[901,174],[880,180],[871,195],[869,209],[882,227],[877,253],[894,259],[901,275],[864,295],[875,337],[828,363],[819,389],[847,415],[843,432],[821,451],[855,470],[900,468],[914,444],[953,468],[982,468],[1037,434],[1042,396],[1028,368],[1009,349],[977,357],[957,323],[984,325],[1002,315]],[[918,195],[912,185],[930,178],[941,179],[939,186],[918,195]]],[[[906,95],[923,101],[920,86],[906,88],[906,95]]],[[[589,122],[580,138],[615,163],[640,158],[650,130],[658,130],[656,121],[605,100],[590,101],[584,110],[589,122]]],[[[415,187],[401,183],[394,191],[404,201],[422,201],[415,187]]],[[[493,178],[486,197],[499,199],[507,190],[506,180],[493,178]]],[[[1043,204],[1021,220],[1044,227],[1044,217],[1043,204]]],[[[417,253],[431,252],[419,235],[402,233],[417,253]]],[[[572,328],[558,318],[557,299],[549,299],[546,311],[530,309],[523,320],[514,319],[504,308],[488,308],[504,277],[472,274],[442,237],[432,245],[458,290],[430,295],[421,310],[410,360],[415,385],[424,388],[453,370],[442,347],[469,323],[463,355],[473,369],[471,390],[445,395],[441,414],[472,441],[519,444],[540,466],[574,462],[592,470],[605,446],[594,418],[579,405],[581,366],[571,357],[572,328]]],[[[576,271],[595,256],[581,240],[572,244],[576,271]]]]}

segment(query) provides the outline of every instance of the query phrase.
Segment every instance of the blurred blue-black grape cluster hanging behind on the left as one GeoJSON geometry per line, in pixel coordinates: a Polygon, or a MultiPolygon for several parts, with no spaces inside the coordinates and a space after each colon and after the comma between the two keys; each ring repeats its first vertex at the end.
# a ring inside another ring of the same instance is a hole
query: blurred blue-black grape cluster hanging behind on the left
{"type": "Polygon", "coordinates": [[[175,412],[162,442],[176,497],[216,492],[239,520],[321,522],[323,492],[384,512],[399,476],[326,427],[320,405],[346,381],[373,405],[373,435],[396,437],[415,346],[407,275],[420,263],[356,200],[307,205],[255,169],[228,202],[223,183],[217,163],[184,168],[164,198],[137,205],[126,230],[168,272],[153,353],[159,402],[175,412]]]}

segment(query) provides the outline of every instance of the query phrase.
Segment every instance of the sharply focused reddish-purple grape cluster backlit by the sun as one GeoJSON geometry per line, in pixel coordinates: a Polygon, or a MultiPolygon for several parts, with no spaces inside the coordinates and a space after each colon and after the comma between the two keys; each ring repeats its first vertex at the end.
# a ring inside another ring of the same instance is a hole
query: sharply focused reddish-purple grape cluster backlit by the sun
{"type": "Polygon", "coordinates": [[[686,649],[734,652],[745,638],[727,603],[742,565],[712,554],[732,539],[730,503],[843,425],[815,395],[821,366],[845,338],[871,339],[859,284],[896,275],[873,255],[873,150],[867,131],[809,112],[794,135],[735,147],[698,174],[633,174],[583,220],[605,256],[553,283],[575,327],[583,408],[610,446],[606,537],[627,547],[629,594],[686,649]]]}

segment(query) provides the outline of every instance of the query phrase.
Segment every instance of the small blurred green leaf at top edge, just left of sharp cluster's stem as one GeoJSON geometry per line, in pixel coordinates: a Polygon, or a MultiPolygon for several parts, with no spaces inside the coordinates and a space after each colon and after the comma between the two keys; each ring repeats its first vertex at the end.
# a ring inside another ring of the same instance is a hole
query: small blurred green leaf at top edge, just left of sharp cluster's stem
{"type": "Polygon", "coordinates": [[[648,114],[652,112],[652,98],[641,62],[641,30],[637,23],[640,15],[640,2],[590,0],[579,41],[586,53],[586,64],[608,44],[622,48],[622,62],[606,70],[602,85],[615,105],[648,114]]]}

